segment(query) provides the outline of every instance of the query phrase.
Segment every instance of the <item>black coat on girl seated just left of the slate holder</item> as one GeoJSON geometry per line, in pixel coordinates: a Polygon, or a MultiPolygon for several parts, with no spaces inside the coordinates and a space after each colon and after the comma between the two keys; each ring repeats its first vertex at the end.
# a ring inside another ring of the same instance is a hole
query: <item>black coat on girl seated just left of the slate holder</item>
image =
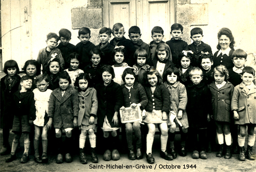
{"type": "Polygon", "coordinates": [[[108,86],[104,86],[103,83],[96,85],[98,98],[98,124],[100,127],[103,126],[105,116],[108,119],[111,127],[120,127],[121,119],[118,115],[118,125],[115,125],[112,122],[114,113],[119,112],[120,108],[123,106],[123,94],[122,89],[119,84],[111,80],[111,83],[108,86]]]}

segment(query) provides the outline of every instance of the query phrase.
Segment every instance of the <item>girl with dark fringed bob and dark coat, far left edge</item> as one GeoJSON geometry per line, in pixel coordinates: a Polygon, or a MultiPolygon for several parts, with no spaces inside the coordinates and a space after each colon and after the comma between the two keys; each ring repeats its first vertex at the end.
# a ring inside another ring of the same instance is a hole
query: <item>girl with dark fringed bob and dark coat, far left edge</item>
{"type": "Polygon", "coordinates": [[[11,151],[9,144],[9,134],[12,128],[14,113],[12,111],[13,93],[18,91],[20,85],[20,76],[18,76],[19,67],[16,61],[8,60],[3,67],[6,75],[0,81],[0,111],[1,111],[1,128],[3,132],[3,147],[1,155],[7,155],[11,151]]]}

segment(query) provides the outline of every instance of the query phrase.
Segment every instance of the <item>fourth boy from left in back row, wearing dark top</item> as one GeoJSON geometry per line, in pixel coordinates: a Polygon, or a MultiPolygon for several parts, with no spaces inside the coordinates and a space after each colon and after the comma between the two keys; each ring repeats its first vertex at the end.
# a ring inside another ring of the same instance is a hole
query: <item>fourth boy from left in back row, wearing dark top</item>
{"type": "Polygon", "coordinates": [[[111,45],[108,41],[111,38],[112,30],[111,28],[102,27],[100,30],[99,38],[100,43],[96,47],[102,52],[101,63],[105,65],[113,65],[112,52],[115,46],[111,45]]]}

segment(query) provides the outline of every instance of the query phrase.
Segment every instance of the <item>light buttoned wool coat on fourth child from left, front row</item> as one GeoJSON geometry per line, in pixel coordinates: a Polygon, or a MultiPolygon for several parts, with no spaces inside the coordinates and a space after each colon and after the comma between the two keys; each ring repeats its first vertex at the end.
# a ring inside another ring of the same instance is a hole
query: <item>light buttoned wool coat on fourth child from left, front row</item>
{"type": "Polygon", "coordinates": [[[94,88],[88,87],[83,95],[78,92],[79,99],[79,111],[78,111],[78,126],[90,125],[89,118],[94,116],[94,124],[97,124],[97,110],[98,110],[98,99],[97,93],[94,88]]]}

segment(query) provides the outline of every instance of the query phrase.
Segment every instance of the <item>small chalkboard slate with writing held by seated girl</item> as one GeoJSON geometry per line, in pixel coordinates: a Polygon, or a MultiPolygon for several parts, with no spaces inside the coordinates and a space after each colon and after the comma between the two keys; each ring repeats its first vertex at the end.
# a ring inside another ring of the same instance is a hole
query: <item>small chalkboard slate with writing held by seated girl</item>
{"type": "Polygon", "coordinates": [[[141,121],[140,107],[127,107],[125,110],[120,110],[121,123],[141,121]]]}

